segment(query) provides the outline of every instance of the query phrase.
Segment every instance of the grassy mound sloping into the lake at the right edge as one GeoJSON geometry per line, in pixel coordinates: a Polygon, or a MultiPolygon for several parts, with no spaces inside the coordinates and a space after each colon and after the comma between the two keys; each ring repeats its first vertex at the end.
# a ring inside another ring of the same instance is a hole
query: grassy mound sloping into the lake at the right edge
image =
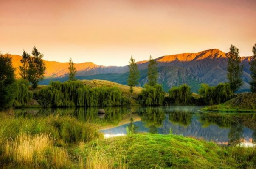
{"type": "Polygon", "coordinates": [[[256,93],[241,93],[223,104],[207,106],[204,110],[256,111],[256,93]]]}

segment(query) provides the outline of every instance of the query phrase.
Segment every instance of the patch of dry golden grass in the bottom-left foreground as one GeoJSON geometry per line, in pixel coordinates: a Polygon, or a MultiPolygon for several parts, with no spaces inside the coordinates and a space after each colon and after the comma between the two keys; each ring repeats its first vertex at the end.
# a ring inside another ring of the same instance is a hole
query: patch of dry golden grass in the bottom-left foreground
{"type": "Polygon", "coordinates": [[[68,153],[63,148],[55,148],[49,135],[29,136],[20,134],[16,139],[6,142],[3,157],[18,166],[44,166],[65,168],[70,164],[68,153]]]}

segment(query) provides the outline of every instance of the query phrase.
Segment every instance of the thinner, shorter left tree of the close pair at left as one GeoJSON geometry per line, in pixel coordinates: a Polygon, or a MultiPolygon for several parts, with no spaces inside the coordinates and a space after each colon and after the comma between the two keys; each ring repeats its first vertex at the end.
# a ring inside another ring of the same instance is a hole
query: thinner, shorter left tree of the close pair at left
{"type": "Polygon", "coordinates": [[[30,59],[30,55],[26,53],[25,50],[23,50],[22,59],[20,60],[21,66],[19,66],[19,74],[22,79],[28,79],[28,68],[30,59]]]}

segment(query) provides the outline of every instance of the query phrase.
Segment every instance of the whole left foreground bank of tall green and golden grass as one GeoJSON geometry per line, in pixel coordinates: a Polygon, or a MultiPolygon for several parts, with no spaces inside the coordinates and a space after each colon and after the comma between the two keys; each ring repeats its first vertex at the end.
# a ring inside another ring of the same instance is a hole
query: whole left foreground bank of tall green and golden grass
{"type": "Polygon", "coordinates": [[[3,168],[77,167],[70,148],[102,138],[96,125],[67,116],[15,118],[1,113],[0,121],[3,168]]]}

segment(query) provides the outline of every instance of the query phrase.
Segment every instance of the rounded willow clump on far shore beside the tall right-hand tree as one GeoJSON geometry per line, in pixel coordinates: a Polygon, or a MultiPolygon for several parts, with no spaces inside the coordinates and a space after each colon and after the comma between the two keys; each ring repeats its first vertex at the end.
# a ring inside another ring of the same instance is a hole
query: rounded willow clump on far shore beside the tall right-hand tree
{"type": "Polygon", "coordinates": [[[229,83],[219,83],[217,86],[211,87],[207,84],[201,84],[199,89],[200,95],[203,96],[205,104],[221,104],[233,97],[229,83]]]}

